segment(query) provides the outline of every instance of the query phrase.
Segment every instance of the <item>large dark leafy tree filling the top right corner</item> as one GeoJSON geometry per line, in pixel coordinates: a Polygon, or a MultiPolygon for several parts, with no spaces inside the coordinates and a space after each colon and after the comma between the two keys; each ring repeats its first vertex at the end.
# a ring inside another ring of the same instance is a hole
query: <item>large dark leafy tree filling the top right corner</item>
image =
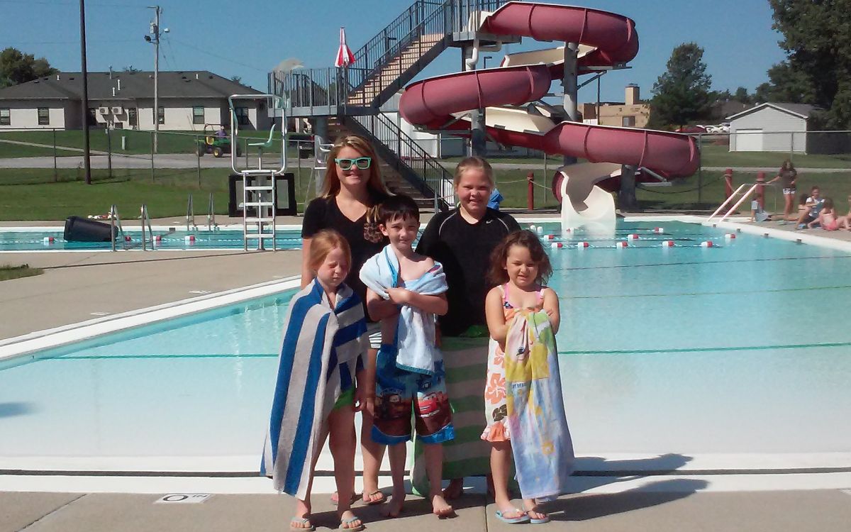
{"type": "Polygon", "coordinates": [[[824,112],[818,127],[851,128],[851,0],[769,0],[786,60],[768,71],[772,100],[808,103],[824,112]]]}

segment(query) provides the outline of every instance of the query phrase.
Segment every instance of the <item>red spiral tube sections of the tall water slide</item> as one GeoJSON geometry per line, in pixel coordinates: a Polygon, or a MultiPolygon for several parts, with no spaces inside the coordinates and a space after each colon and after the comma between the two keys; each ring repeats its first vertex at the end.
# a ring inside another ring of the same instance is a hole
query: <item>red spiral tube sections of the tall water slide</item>
{"type": "MultiPolygon", "coordinates": [[[[625,63],[638,53],[635,22],[597,9],[510,2],[489,15],[482,30],[594,47],[580,59],[580,72],[583,68],[625,63]]],[[[540,64],[431,77],[408,85],[399,111],[409,123],[460,133],[469,125],[454,121],[453,113],[539,100],[549,91],[553,79],[561,79],[562,71],[561,65],[540,64]]],[[[488,126],[488,135],[508,146],[582,157],[594,163],[643,166],[668,177],[694,174],[700,165],[694,139],[666,131],[563,122],[547,130],[488,126]]]]}

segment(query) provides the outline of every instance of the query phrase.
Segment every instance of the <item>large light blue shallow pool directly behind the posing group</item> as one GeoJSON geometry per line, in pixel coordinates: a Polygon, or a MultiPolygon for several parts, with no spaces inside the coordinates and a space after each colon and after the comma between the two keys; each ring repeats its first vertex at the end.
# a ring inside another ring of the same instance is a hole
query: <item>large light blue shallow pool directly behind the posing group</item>
{"type": "MultiPolygon", "coordinates": [[[[564,245],[550,249],[551,286],[577,455],[735,456],[719,462],[732,468],[749,466],[742,456],[792,466],[795,455],[819,455],[820,466],[848,466],[836,460],[851,456],[851,329],[841,311],[851,253],[661,225],[664,234],[658,222],[620,222],[614,237],[577,231],[552,241],[564,245]],[[615,247],[630,234],[638,238],[615,247]],[[675,246],[661,247],[666,240],[675,246]]],[[[287,300],[0,366],[0,458],[255,471],[287,300]]]]}

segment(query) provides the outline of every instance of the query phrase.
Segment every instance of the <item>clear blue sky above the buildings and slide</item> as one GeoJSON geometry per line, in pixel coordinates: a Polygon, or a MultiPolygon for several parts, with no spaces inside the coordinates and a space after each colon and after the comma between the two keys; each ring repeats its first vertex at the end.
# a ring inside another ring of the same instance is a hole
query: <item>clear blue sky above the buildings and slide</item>
{"type": "MultiPolygon", "coordinates": [[[[156,0],[86,2],[89,70],[120,70],[132,65],[153,69],[153,47],[143,37],[156,0]]],[[[558,0],[550,0],[558,3],[558,0]]],[[[161,0],[162,27],[170,32],[160,47],[161,70],[208,70],[266,90],[266,72],[281,60],[296,57],[308,67],[331,66],[340,26],[357,50],[410,5],[409,0],[161,0]],[[232,7],[240,9],[234,11],[232,7]],[[298,6],[295,9],[294,6],[298,6]],[[357,6],[355,9],[353,6],[357,6]]],[[[603,100],[623,100],[627,83],[638,83],[649,97],[665,72],[671,50],[698,43],[713,89],[743,86],[752,91],[768,81],[766,71],[783,60],[780,34],[771,29],[765,0],[578,0],[569,3],[625,14],[636,21],[641,49],[631,70],[603,77],[603,100]]],[[[3,29],[0,48],[13,46],[46,57],[63,71],[80,70],[79,3],[74,0],[0,0],[3,29]]],[[[553,46],[531,39],[510,51],[553,46]]],[[[494,65],[501,54],[488,60],[494,65]],[[493,62],[492,62],[493,61],[493,62]]],[[[424,75],[455,72],[460,52],[449,49],[424,75]]],[[[593,85],[593,84],[592,84],[593,85]]],[[[554,89],[556,89],[554,85],[554,89]]],[[[596,89],[580,91],[581,101],[596,89]]]]}

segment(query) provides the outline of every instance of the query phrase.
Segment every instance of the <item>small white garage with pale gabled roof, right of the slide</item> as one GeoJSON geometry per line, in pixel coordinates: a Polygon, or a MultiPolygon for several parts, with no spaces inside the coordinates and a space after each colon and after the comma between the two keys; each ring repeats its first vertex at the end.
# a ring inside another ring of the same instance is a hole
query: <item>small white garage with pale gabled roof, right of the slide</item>
{"type": "Polygon", "coordinates": [[[730,152],[807,152],[809,117],[817,109],[768,102],[727,117],[730,152]]]}

